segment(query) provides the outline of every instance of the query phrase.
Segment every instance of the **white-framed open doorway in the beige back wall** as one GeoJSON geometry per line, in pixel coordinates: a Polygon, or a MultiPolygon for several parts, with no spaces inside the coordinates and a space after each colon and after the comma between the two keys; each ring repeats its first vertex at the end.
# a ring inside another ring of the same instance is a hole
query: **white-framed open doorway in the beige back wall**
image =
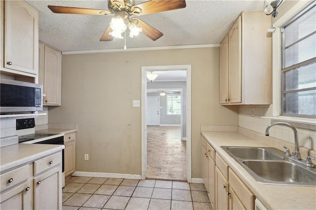
{"type": "Polygon", "coordinates": [[[142,67],[142,178],[191,182],[190,65],[142,67]]]}

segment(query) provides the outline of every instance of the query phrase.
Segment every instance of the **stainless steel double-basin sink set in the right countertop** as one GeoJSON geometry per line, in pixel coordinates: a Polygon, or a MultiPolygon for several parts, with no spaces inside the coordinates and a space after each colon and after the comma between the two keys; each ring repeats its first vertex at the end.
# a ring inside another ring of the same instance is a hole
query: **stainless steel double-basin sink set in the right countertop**
{"type": "Polygon", "coordinates": [[[265,184],[316,186],[316,169],[284,159],[273,147],[221,146],[252,177],[265,184]]]}

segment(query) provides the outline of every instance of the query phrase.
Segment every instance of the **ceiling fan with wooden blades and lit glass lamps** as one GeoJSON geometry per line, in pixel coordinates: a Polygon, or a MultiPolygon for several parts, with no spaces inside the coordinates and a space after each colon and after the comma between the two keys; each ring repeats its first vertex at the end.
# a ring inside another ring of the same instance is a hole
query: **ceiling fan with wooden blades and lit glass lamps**
{"type": "Polygon", "coordinates": [[[62,14],[84,14],[84,15],[114,15],[110,26],[102,35],[100,41],[112,41],[114,37],[123,38],[121,33],[125,32],[127,27],[130,30],[130,37],[142,32],[152,40],[157,40],[163,34],[154,27],[145,23],[137,17],[186,7],[185,0],[149,0],[143,3],[135,4],[135,0],[108,0],[108,10],[51,6],[48,8],[54,13],[62,14]]]}

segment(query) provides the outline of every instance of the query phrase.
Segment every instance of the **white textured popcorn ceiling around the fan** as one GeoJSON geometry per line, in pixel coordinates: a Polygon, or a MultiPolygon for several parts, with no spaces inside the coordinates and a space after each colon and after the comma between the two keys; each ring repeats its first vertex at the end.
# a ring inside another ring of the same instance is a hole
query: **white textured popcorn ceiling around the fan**
{"type": "MultiPolygon", "coordinates": [[[[47,5],[104,9],[107,0],[26,0],[40,11],[40,40],[61,50],[122,49],[124,40],[99,41],[113,16],[52,13],[47,5]]],[[[136,1],[140,3],[143,1],[136,1]]],[[[127,48],[218,44],[242,11],[263,10],[263,0],[186,0],[186,8],[139,16],[163,36],[153,41],[126,33],[127,48]]],[[[133,16],[132,16],[133,17],[133,16]]]]}

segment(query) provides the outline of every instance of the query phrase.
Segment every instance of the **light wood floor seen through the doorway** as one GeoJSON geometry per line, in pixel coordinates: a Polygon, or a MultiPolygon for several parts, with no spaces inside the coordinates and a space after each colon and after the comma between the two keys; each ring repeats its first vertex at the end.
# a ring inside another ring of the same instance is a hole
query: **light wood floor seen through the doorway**
{"type": "Polygon", "coordinates": [[[147,126],[147,176],[187,180],[186,141],[180,127],[147,126]]]}

